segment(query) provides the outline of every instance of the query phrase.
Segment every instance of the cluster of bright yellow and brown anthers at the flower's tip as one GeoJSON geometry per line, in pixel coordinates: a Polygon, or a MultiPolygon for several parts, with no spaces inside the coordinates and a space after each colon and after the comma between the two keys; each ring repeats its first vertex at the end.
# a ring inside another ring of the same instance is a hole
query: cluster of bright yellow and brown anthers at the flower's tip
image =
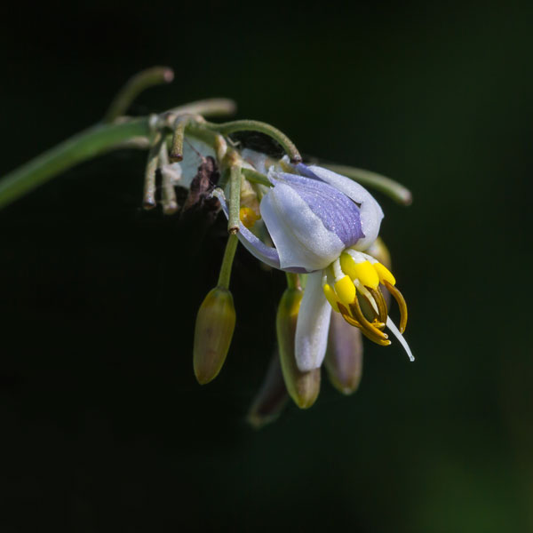
{"type": "Polygon", "coordinates": [[[391,341],[383,331],[388,311],[380,284],[393,295],[400,307],[399,330],[403,333],[407,325],[405,299],[394,286],[394,275],[378,260],[362,251],[347,249],[331,263],[322,277],[322,289],[333,310],[342,314],[346,322],[362,330],[363,335],[373,342],[388,346],[391,341]]]}

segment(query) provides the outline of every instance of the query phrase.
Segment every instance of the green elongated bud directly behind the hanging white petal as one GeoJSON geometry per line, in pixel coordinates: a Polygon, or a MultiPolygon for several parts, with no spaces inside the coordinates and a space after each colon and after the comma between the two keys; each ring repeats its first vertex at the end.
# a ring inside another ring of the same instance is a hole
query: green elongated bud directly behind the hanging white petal
{"type": "Polygon", "coordinates": [[[294,356],[294,336],[304,293],[299,288],[283,292],[276,316],[276,332],[285,386],[300,409],[311,407],[320,392],[320,369],[301,372],[294,356]]]}

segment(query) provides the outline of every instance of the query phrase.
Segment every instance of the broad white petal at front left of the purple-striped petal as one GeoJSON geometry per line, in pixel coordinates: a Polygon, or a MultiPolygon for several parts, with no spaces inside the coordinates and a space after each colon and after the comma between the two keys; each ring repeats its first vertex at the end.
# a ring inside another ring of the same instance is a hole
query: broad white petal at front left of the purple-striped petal
{"type": "Polygon", "coordinates": [[[322,220],[288,185],[277,183],[271,188],[263,197],[260,210],[280,254],[282,268],[322,270],[345,248],[338,236],[326,229],[322,220]]]}

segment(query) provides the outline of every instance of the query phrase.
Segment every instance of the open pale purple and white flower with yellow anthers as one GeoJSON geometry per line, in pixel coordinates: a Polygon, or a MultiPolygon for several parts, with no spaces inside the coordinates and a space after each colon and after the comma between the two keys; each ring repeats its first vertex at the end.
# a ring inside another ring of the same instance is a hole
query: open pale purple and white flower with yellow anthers
{"type": "MultiPolygon", "coordinates": [[[[267,265],[308,274],[298,314],[295,357],[298,369],[319,368],[326,352],[331,311],[359,328],[381,346],[391,344],[387,328],[400,341],[407,306],[395,287],[394,275],[364,253],[376,240],[383,211],[361,185],[319,166],[300,163],[291,172],[271,167],[269,188],[260,203],[261,217],[274,247],[259,240],[242,223],[237,234],[243,245],[267,265]],[[388,316],[381,287],[400,306],[400,328],[388,316]]],[[[215,191],[227,214],[222,191],[215,191]]]]}

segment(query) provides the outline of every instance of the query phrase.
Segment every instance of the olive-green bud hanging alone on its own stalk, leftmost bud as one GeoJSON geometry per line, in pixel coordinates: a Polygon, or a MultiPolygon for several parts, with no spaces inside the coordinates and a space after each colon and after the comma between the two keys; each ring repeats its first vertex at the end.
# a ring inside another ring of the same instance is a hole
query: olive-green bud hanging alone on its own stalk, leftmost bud
{"type": "Polygon", "coordinates": [[[193,363],[200,385],[219,374],[235,330],[235,306],[231,292],[223,287],[210,290],[198,310],[193,363]]]}

